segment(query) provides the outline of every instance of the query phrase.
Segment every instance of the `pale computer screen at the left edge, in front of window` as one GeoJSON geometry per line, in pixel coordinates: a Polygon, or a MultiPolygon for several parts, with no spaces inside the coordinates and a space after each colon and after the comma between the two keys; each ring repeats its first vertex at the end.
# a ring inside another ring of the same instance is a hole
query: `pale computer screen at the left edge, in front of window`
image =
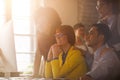
{"type": "Polygon", "coordinates": [[[12,21],[0,26],[0,72],[16,72],[16,53],[12,21]]]}

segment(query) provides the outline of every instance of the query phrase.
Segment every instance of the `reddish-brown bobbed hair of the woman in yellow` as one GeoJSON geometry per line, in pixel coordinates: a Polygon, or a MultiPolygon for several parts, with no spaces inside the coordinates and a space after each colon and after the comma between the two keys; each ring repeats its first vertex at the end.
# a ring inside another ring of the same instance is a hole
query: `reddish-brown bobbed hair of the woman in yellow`
{"type": "Polygon", "coordinates": [[[75,33],[73,28],[70,25],[61,25],[60,27],[57,28],[56,31],[60,31],[63,34],[67,35],[68,42],[71,45],[75,44],[75,33]]]}

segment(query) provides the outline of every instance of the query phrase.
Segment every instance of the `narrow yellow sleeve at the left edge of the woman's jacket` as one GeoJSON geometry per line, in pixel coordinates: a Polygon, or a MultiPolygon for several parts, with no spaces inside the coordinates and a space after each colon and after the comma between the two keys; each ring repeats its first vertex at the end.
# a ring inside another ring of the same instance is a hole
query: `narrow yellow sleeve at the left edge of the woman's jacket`
{"type": "Polygon", "coordinates": [[[52,78],[52,68],[51,68],[51,62],[47,62],[45,63],[45,77],[46,78],[52,78]]]}

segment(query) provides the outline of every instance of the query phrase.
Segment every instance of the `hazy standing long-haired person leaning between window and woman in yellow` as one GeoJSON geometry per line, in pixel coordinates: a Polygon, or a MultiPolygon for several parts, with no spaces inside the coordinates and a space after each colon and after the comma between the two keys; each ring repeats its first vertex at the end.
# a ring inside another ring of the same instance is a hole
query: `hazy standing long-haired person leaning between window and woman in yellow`
{"type": "Polygon", "coordinates": [[[39,76],[44,75],[44,70],[42,70],[42,74],[39,74],[41,73],[39,71],[39,69],[41,69],[41,58],[43,56],[42,59],[46,60],[50,46],[55,43],[55,29],[61,25],[61,20],[58,13],[49,7],[38,8],[35,12],[34,18],[37,27],[37,50],[35,54],[33,74],[34,76],[39,76]]]}

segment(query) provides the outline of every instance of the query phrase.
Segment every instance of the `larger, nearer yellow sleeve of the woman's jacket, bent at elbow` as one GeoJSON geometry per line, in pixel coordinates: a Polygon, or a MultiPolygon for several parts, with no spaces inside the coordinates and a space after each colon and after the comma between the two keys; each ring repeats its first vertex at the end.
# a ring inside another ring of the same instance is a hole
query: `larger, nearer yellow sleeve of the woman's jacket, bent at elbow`
{"type": "Polygon", "coordinates": [[[85,61],[79,50],[72,51],[71,54],[68,53],[68,57],[62,66],[60,66],[59,60],[53,60],[51,61],[53,77],[65,77],[65,75],[68,75],[72,70],[74,70],[79,64],[83,62],[85,61]]]}

